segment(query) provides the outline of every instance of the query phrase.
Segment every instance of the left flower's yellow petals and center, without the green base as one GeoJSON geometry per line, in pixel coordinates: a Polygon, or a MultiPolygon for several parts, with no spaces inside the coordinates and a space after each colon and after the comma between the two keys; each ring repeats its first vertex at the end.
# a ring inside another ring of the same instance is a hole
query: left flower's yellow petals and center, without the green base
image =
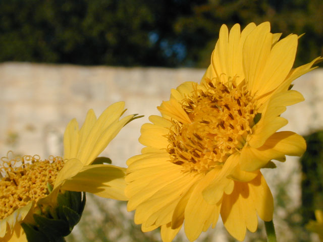
{"type": "Polygon", "coordinates": [[[124,106],[124,102],[112,104],[99,118],[90,109],[81,129],[76,119],[72,119],[64,134],[64,158],[2,158],[1,241],[27,241],[21,223],[32,221],[33,213],[37,212],[36,205],[55,207],[60,191],[89,192],[105,198],[127,200],[124,194],[125,168],[92,164],[133,118],[129,115],[120,119],[124,106]],[[48,185],[53,186],[49,194],[48,185]]]}

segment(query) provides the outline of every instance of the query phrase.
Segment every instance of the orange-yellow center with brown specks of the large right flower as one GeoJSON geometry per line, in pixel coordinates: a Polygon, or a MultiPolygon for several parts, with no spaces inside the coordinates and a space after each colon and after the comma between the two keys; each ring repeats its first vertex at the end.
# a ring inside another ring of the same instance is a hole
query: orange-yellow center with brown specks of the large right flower
{"type": "Polygon", "coordinates": [[[182,101],[190,124],[172,120],[168,136],[171,162],[184,171],[207,173],[239,151],[256,114],[246,86],[206,80],[182,101]]]}

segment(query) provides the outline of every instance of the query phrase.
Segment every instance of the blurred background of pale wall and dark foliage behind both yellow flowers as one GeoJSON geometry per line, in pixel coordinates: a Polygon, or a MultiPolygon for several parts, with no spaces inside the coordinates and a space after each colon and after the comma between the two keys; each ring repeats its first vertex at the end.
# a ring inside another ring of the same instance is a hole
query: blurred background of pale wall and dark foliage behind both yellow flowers
{"type": "MultiPolygon", "coordinates": [[[[99,115],[123,100],[128,114],[145,116],[102,155],[125,167],[142,148],[141,125],[158,114],[170,89],[200,81],[222,24],[270,21],[283,37],[305,33],[297,67],[323,55],[322,9],[321,0],[0,0],[0,154],[62,155],[70,119],[82,124],[89,108],[99,115]]],[[[306,100],[283,114],[289,120],[284,130],[306,137],[308,150],[263,173],[274,195],[278,238],[318,241],[305,224],[314,209],[323,209],[323,70],[294,84],[306,100]]],[[[158,231],[140,231],[124,202],[87,198],[68,241],[160,241],[158,231]]],[[[180,233],[176,241],[188,240],[180,233]]],[[[235,240],[220,221],[197,241],[235,240]]],[[[266,241],[262,221],[245,241],[266,241]]]]}

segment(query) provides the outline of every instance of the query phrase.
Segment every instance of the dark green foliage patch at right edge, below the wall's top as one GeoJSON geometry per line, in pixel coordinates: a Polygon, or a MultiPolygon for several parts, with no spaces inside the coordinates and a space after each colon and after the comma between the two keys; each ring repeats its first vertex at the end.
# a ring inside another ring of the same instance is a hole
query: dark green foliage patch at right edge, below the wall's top
{"type": "Polygon", "coordinates": [[[323,131],[305,137],[307,149],[302,164],[302,216],[304,224],[315,220],[314,210],[323,210],[323,131]]]}

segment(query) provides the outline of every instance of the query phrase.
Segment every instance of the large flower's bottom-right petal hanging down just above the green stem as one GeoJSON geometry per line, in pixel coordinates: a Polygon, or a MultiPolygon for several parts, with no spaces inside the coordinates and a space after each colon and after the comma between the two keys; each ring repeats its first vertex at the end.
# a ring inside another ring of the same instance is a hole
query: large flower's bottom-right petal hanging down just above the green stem
{"type": "Polygon", "coordinates": [[[263,221],[271,221],[274,213],[274,199],[263,175],[259,173],[254,180],[248,183],[250,197],[254,201],[258,216],[263,221]]]}

